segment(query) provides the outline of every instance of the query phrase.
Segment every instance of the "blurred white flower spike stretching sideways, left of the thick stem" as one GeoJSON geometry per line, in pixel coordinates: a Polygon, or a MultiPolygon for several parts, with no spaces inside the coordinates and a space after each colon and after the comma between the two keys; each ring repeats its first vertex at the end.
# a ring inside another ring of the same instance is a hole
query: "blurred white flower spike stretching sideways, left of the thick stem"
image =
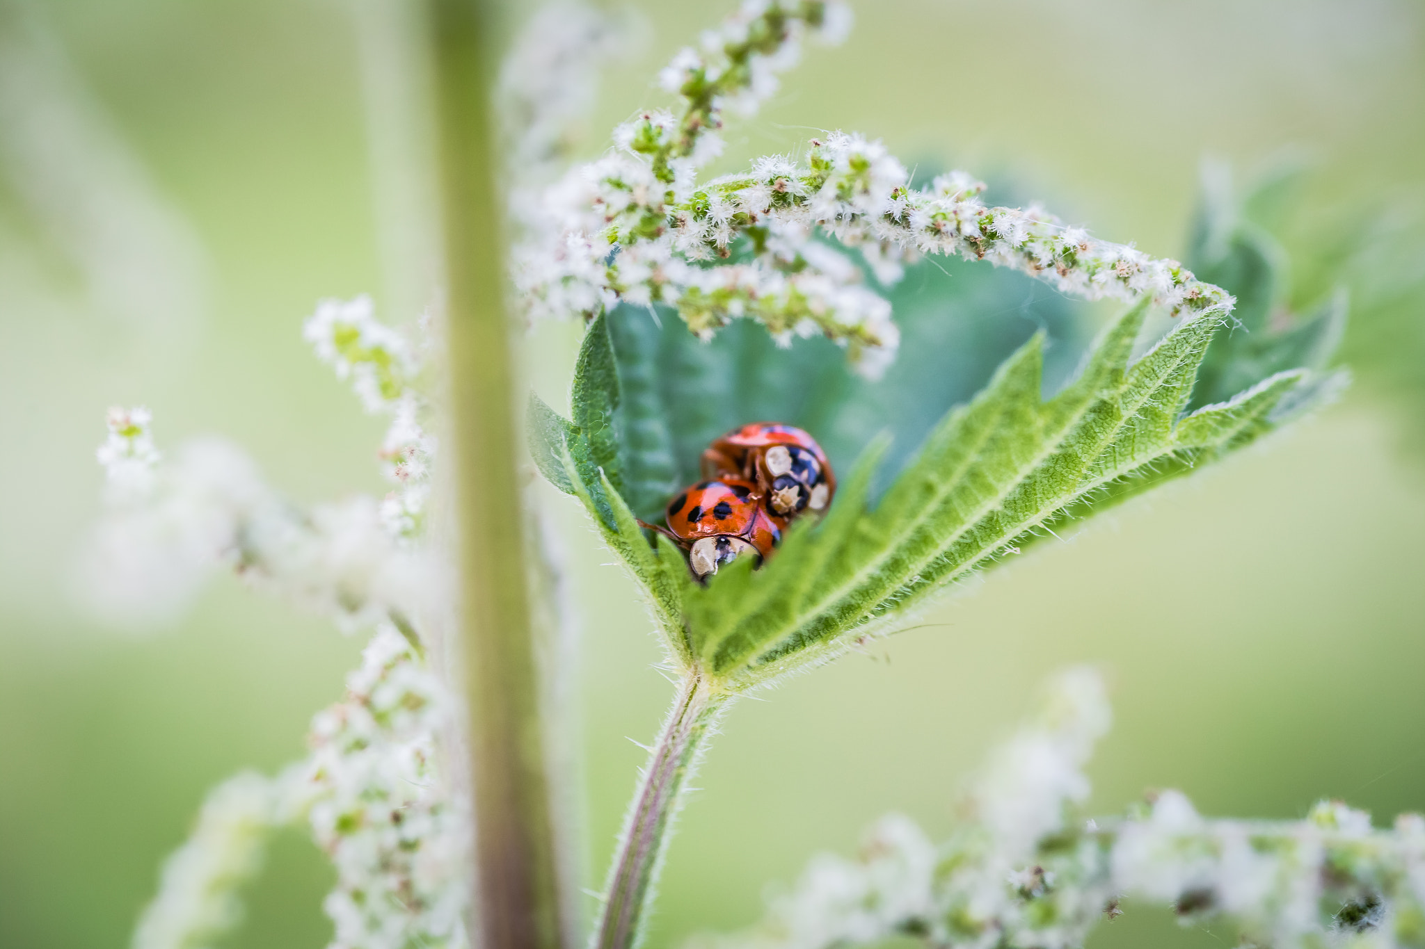
{"type": "Polygon", "coordinates": [[[393,541],[373,499],[302,511],[231,442],[194,440],[160,464],[147,413],[110,411],[110,428],[100,455],[114,489],[80,562],[105,617],[170,619],[222,568],[348,627],[420,608],[423,555],[393,541]]]}

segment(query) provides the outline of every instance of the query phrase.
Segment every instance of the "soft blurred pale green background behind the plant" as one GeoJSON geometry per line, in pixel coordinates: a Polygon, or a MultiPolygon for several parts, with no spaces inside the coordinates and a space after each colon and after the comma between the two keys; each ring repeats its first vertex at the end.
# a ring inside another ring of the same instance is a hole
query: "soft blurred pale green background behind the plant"
{"type": "MultiPolygon", "coordinates": [[[[730,3],[640,4],[590,148],[730,3]]],[[[0,946],[120,946],[204,790],[299,756],[361,643],[215,583],[165,627],[86,619],[71,563],[111,403],[161,445],[221,433],[301,501],[379,491],[379,423],[306,353],[322,296],[382,290],[362,83],[342,0],[0,0],[0,946]]],[[[819,128],[1015,176],[1062,216],[1180,253],[1204,155],[1317,161],[1300,248],[1425,186],[1425,10],[1402,0],[882,0],[812,50],[727,162],[819,128]],[[1311,228],[1318,228],[1312,230],[1311,228]]],[[[989,174],[983,171],[982,174],[989,174]]],[[[1402,255],[1399,266],[1421,258],[1402,255]]],[[[1307,275],[1310,276],[1310,275],[1307,275]]],[[[1408,302],[1408,297],[1406,297],[1408,302]]],[[[399,313],[396,317],[408,314],[399,313]]],[[[1425,808],[1425,316],[1367,307],[1345,401],[932,609],[925,625],[742,703],[697,781],[654,946],[760,912],[815,849],[958,784],[1053,669],[1100,663],[1117,727],[1102,810],[1146,787],[1295,817],[1340,795],[1425,808]]],[[[573,333],[537,337],[560,378],[573,333]]],[[[547,495],[549,504],[573,502],[547,495]]],[[[631,585],[567,518],[586,605],[579,744],[597,886],[668,696],[631,585]]],[[[321,858],[284,837],[231,946],[316,946],[321,858]]],[[[1131,908],[1100,946],[1204,940],[1131,908]]]]}

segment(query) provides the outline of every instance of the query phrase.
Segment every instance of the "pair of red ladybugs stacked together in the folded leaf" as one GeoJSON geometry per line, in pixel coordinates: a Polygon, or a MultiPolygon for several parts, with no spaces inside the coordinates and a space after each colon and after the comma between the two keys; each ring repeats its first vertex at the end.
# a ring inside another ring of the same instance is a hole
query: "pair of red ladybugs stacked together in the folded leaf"
{"type": "Polygon", "coordinates": [[[831,504],[836,477],[801,428],[752,423],[703,452],[703,477],[668,504],[668,531],[698,578],[752,552],[771,556],[791,521],[831,504]]]}

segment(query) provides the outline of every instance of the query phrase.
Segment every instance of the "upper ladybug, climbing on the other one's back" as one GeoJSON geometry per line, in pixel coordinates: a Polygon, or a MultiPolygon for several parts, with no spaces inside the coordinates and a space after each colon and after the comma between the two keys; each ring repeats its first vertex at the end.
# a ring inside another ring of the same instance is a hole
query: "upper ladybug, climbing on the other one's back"
{"type": "Polygon", "coordinates": [[[836,491],[836,475],[817,440],[771,421],[735,428],[703,452],[703,477],[718,475],[755,482],[777,518],[825,511],[836,491]]]}

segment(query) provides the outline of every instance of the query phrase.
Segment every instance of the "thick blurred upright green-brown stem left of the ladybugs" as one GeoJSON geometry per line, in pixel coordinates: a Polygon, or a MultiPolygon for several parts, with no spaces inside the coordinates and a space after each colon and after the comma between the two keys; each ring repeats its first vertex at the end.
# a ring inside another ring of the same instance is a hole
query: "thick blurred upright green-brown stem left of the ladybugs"
{"type": "Polygon", "coordinates": [[[429,0],[445,229],[460,626],[475,798],[475,942],[556,949],[489,68],[492,3],[429,0]]]}

